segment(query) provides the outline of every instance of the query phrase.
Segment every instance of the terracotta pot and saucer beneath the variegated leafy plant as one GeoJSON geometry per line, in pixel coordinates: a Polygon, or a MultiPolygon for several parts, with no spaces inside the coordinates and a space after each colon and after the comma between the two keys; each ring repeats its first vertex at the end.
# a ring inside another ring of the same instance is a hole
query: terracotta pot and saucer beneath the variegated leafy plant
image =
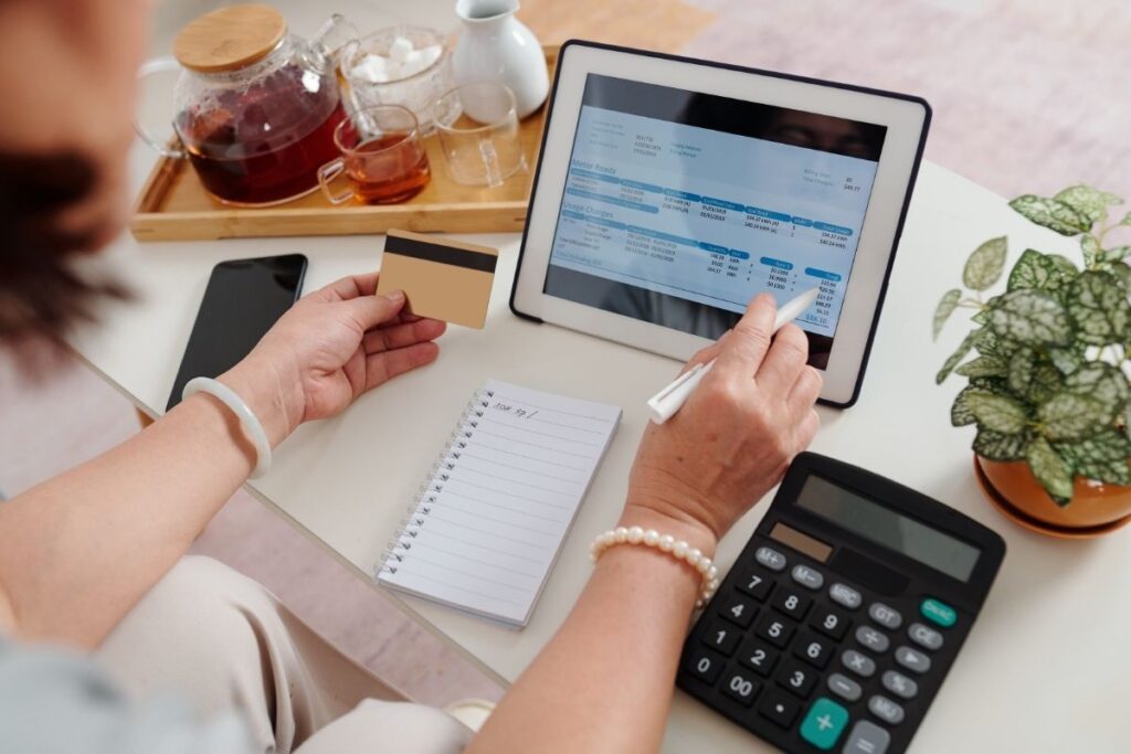
{"type": "Polygon", "coordinates": [[[1025,461],[991,461],[975,456],[975,466],[991,502],[1018,523],[1043,534],[1096,536],[1131,521],[1131,487],[1077,477],[1072,502],[1062,508],[1025,461]]]}

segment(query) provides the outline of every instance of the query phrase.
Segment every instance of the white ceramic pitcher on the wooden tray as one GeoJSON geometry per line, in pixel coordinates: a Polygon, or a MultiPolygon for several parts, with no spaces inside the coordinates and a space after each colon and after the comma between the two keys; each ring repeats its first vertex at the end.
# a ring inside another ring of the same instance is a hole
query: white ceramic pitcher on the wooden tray
{"type": "Polygon", "coordinates": [[[515,93],[519,118],[546,99],[550,75],[538,40],[515,18],[518,0],[457,0],[464,31],[456,42],[451,70],[456,84],[495,81],[515,93]]]}

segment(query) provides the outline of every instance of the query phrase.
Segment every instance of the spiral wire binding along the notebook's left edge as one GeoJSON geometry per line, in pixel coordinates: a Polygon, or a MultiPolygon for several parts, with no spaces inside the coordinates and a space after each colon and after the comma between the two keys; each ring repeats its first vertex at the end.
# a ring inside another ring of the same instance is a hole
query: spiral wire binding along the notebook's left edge
{"type": "Polygon", "coordinates": [[[484,409],[487,408],[490,399],[493,397],[494,391],[486,389],[480,389],[472,393],[470,400],[467,401],[467,406],[464,407],[464,411],[456,422],[456,428],[429,469],[424,477],[425,480],[416,488],[413,502],[405,509],[405,515],[397,523],[396,534],[386,544],[381,565],[377,567],[373,578],[380,577],[381,573],[395,574],[398,564],[404,562],[408,551],[413,548],[413,541],[420,536],[428,522],[429,513],[432,512],[437,497],[443,492],[443,485],[448,482],[451,471],[455,470],[456,461],[467,448],[475,428],[480,425],[484,409]]]}

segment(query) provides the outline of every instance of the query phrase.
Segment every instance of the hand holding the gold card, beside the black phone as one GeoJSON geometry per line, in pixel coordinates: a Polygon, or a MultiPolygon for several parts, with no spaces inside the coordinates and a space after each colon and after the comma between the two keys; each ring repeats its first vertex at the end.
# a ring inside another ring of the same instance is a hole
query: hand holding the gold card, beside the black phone
{"type": "Polygon", "coordinates": [[[271,445],[303,422],[435,361],[444,323],[404,312],[405,296],[374,295],[377,274],[343,278],[300,300],[221,381],[256,413],[271,445]]]}

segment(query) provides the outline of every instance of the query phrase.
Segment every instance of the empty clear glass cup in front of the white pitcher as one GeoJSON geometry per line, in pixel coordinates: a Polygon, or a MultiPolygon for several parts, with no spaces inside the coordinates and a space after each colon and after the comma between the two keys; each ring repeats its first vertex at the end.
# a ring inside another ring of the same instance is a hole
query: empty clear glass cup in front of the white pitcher
{"type": "Polygon", "coordinates": [[[502,185],[526,170],[515,93],[502,84],[465,84],[435,104],[435,127],[451,180],[502,185]]]}

